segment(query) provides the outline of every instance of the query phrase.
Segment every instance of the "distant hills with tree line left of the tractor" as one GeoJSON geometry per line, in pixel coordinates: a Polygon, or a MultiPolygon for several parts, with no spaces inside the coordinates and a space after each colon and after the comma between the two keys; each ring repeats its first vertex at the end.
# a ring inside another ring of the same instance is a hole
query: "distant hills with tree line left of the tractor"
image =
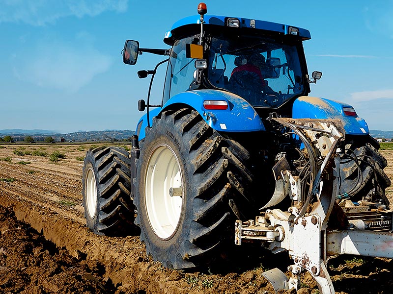
{"type": "Polygon", "coordinates": [[[46,130],[0,130],[0,137],[11,136],[14,141],[24,141],[26,136],[31,136],[34,141],[42,142],[45,137],[51,136],[55,141],[66,142],[86,142],[86,141],[121,141],[127,140],[135,135],[135,131],[130,130],[105,130],[105,131],[78,131],[68,134],[56,133],[46,130]]]}

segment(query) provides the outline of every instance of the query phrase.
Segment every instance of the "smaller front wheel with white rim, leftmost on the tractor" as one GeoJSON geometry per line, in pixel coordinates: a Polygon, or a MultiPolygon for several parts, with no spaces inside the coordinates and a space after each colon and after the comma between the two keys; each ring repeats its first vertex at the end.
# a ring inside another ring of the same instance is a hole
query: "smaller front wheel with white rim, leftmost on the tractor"
{"type": "Polygon", "coordinates": [[[86,152],[83,204],[87,227],[98,235],[126,235],[134,227],[129,152],[98,147],[86,152]]]}

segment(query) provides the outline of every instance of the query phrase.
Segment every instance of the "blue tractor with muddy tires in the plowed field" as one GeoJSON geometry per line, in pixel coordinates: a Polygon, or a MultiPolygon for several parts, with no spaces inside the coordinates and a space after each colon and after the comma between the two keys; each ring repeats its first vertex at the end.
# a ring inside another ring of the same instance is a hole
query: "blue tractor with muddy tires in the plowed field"
{"type": "MultiPolygon", "coordinates": [[[[135,223],[155,261],[192,268],[215,260],[233,244],[235,221],[255,225],[247,220],[272,211],[267,208],[285,212],[295,206],[292,222],[306,217],[308,206],[320,200],[324,181],[334,187],[327,218],[335,220],[329,225],[318,215],[321,228],[345,229],[354,219],[367,226],[373,217],[381,225],[366,229],[390,231],[392,214],[371,211],[388,210],[390,180],[367,124],[351,105],[309,96],[309,84],[322,75],[310,77],[307,71],[302,43],[310,39],[309,31],[206,12],[201,3],[198,16],[176,22],[165,34],[168,49],[126,41],[125,64],[136,64],[144,52],[164,60],[154,70],[138,72],[140,78],[151,75],[151,83],[147,101],[138,102],[147,113],[131,152],[100,147],[86,154],[87,226],[97,234],[118,235],[135,230],[135,223]],[[161,64],[167,66],[163,98],[151,105],[150,89],[161,64]],[[368,206],[362,213],[359,204],[344,209],[347,200],[368,206]]],[[[255,238],[273,232],[275,242],[284,240],[283,231],[270,226],[265,233],[250,232],[255,238]]],[[[236,236],[243,242],[248,238],[236,236]]]]}

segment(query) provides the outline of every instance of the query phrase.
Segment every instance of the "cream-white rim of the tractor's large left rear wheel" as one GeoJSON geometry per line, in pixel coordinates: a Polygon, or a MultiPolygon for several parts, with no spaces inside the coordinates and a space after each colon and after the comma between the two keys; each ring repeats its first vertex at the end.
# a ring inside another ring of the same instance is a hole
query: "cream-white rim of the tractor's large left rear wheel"
{"type": "MultiPolygon", "coordinates": [[[[168,239],[176,231],[182,210],[182,196],[170,196],[170,188],[180,188],[179,160],[168,145],[160,145],[151,154],[145,179],[147,217],[154,233],[168,239]]],[[[184,188],[184,187],[183,187],[184,188]]]]}

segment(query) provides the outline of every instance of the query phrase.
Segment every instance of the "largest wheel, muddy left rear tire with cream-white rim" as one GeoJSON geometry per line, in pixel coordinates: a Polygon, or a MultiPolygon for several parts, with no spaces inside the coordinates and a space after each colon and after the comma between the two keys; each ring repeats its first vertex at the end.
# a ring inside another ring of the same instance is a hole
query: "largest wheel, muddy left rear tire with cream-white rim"
{"type": "Polygon", "coordinates": [[[167,268],[209,264],[234,244],[234,203],[252,180],[247,150],[190,109],[154,118],[140,150],[134,203],[147,254],[167,268]]]}

